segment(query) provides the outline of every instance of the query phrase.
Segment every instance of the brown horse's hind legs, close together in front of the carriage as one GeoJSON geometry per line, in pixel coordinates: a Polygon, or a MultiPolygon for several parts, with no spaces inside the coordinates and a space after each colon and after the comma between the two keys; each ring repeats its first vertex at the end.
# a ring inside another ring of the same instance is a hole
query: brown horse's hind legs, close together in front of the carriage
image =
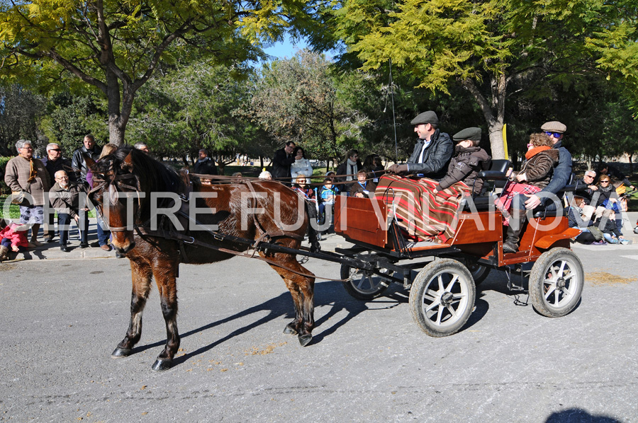
{"type": "MultiPolygon", "coordinates": [[[[281,265],[296,272],[312,274],[300,265],[293,255],[278,253],[269,256],[269,259],[281,263],[281,265]]],[[[306,347],[313,339],[311,332],[315,327],[315,278],[306,277],[276,265],[271,265],[271,267],[276,270],[279,276],[286,282],[286,286],[293,297],[293,303],[295,305],[295,318],[291,323],[286,325],[284,333],[298,335],[299,343],[303,347],[306,347]]]]}

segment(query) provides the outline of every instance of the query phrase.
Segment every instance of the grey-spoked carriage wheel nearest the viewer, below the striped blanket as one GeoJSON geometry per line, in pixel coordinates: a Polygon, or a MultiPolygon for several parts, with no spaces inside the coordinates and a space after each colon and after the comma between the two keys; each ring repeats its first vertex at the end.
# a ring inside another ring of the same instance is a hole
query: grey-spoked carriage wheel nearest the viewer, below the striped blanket
{"type": "Polygon", "coordinates": [[[435,260],[417,274],[410,289],[410,311],[421,330],[432,337],[458,332],[476,299],[474,279],[462,263],[435,260]]]}

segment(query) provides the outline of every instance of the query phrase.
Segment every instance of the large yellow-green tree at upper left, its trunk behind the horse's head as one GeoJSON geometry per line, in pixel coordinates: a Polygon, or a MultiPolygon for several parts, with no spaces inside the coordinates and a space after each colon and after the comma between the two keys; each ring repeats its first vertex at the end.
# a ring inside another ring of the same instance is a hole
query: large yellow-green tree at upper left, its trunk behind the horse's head
{"type": "Polygon", "coordinates": [[[135,95],[158,68],[198,55],[221,64],[257,59],[261,42],[280,39],[291,18],[314,6],[296,0],[3,2],[2,77],[43,91],[68,91],[78,81],[92,86],[108,101],[110,141],[121,144],[135,95]]]}

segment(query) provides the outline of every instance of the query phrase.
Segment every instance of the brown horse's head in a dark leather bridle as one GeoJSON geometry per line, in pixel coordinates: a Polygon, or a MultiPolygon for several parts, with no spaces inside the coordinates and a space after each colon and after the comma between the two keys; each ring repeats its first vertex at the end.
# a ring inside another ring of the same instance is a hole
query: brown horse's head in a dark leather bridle
{"type": "Polygon", "coordinates": [[[86,166],[93,172],[91,202],[97,205],[111,230],[113,246],[120,253],[135,247],[134,229],[140,224],[140,178],[135,173],[135,149],[124,147],[101,158],[97,163],[85,157],[86,166]]]}

